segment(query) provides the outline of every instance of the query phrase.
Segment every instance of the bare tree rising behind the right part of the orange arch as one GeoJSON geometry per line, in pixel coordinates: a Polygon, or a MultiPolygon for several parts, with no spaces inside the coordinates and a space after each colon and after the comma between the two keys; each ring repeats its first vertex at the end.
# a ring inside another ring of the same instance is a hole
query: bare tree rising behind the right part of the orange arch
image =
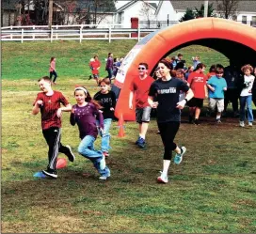
{"type": "Polygon", "coordinates": [[[216,0],[216,10],[221,18],[232,19],[241,0],[216,0]]]}

